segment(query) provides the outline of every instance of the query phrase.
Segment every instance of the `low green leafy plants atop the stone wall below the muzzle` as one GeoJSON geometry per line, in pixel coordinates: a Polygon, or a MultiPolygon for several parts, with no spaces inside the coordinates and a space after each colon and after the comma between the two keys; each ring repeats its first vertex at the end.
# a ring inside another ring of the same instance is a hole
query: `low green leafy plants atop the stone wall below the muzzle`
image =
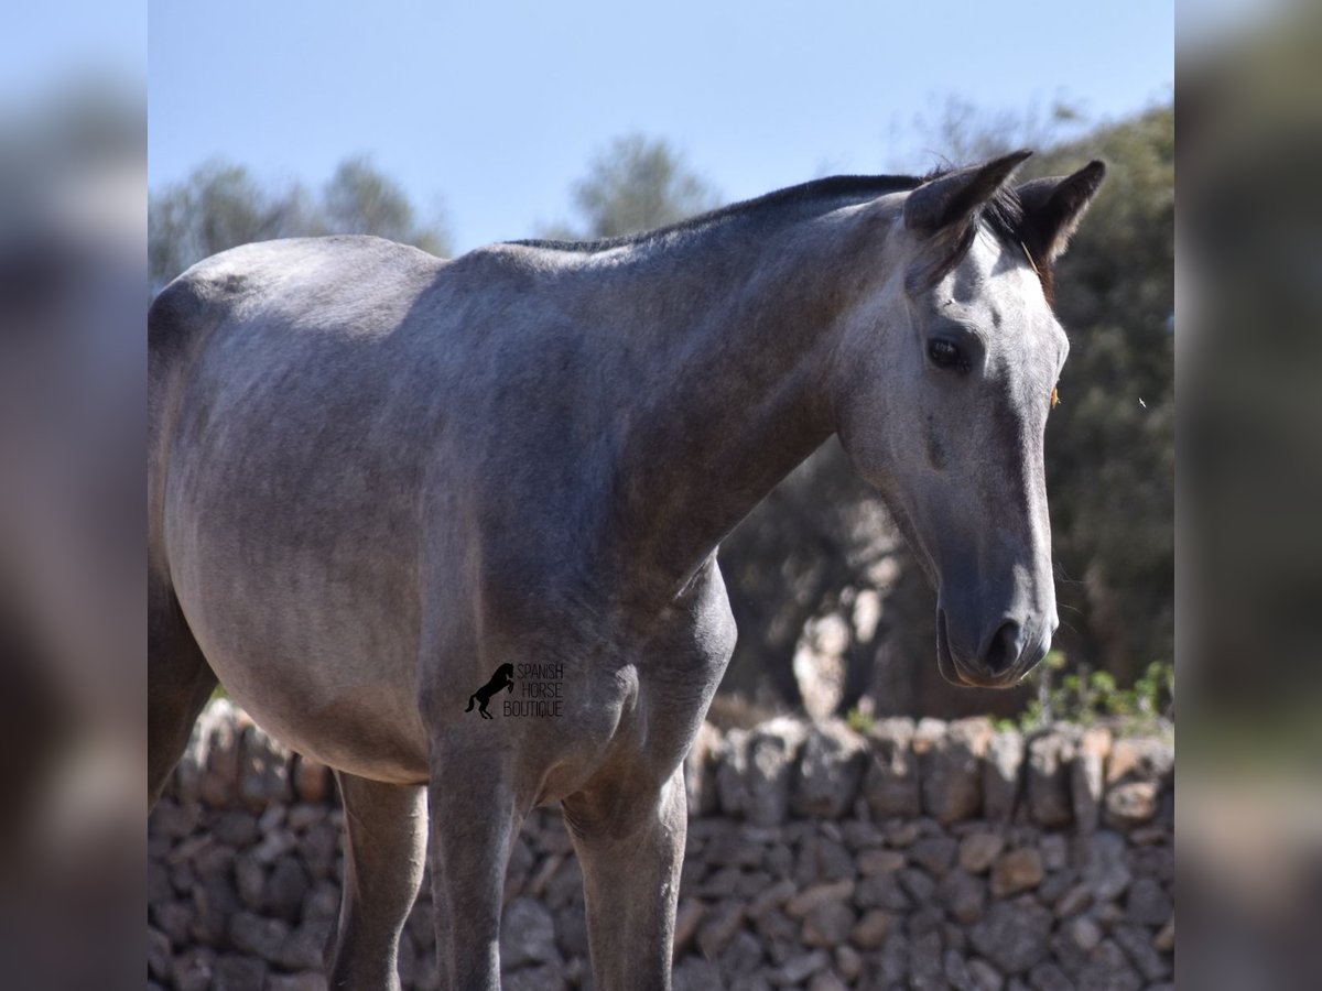
{"type": "Polygon", "coordinates": [[[1151,729],[1174,714],[1175,669],[1153,661],[1129,688],[1118,687],[1109,671],[1087,665],[1066,673],[1066,655],[1052,650],[1029,675],[1036,688],[1034,698],[1015,720],[1001,720],[999,727],[1018,725],[1030,732],[1054,723],[1093,725],[1116,724],[1126,731],[1151,729]]]}

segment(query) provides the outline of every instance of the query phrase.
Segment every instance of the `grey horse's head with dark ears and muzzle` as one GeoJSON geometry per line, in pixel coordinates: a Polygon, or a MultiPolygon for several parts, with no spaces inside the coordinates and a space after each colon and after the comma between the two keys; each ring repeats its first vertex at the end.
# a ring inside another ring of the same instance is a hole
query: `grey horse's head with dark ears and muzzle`
{"type": "Polygon", "coordinates": [[[833,377],[841,441],[936,587],[941,674],[982,687],[1018,682],[1058,625],[1043,435],[1069,344],[1051,267],[1105,174],[1014,186],[1027,156],[878,210],[890,275],[833,377]]]}

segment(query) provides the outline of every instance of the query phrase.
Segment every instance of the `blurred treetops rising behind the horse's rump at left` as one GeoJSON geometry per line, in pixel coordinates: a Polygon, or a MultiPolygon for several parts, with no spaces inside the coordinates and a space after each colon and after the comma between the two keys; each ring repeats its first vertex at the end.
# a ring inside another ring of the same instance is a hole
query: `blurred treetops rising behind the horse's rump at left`
{"type": "Polygon", "coordinates": [[[238,244],[321,234],[375,234],[448,252],[442,226],[419,223],[403,190],[368,159],[342,161],[319,198],[299,184],[263,188],[245,166],[217,160],[148,198],[151,288],[238,244]]]}

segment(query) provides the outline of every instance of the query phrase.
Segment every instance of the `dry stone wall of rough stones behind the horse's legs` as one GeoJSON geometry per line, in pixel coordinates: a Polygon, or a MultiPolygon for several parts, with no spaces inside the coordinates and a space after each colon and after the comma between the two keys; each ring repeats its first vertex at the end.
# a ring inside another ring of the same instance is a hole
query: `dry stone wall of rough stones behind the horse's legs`
{"type": "MultiPolygon", "coordinates": [[[[686,772],[677,990],[1173,987],[1169,739],[775,719],[703,727],[686,772]]],[[[325,768],[214,703],[148,826],[149,988],[324,988],[341,821],[325,768]]],[[[506,991],[591,987],[554,809],[529,817],[504,913],[506,991]]],[[[426,883],[401,974],[439,983],[426,883]]]]}

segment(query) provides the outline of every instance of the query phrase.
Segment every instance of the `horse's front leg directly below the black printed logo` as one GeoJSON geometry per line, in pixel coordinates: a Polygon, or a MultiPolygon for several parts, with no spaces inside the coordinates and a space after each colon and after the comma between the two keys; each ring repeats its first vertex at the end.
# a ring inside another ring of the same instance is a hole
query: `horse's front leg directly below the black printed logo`
{"type": "Polygon", "coordinates": [[[432,749],[427,794],[440,986],[500,991],[501,899],[524,817],[510,756],[432,749]]]}

